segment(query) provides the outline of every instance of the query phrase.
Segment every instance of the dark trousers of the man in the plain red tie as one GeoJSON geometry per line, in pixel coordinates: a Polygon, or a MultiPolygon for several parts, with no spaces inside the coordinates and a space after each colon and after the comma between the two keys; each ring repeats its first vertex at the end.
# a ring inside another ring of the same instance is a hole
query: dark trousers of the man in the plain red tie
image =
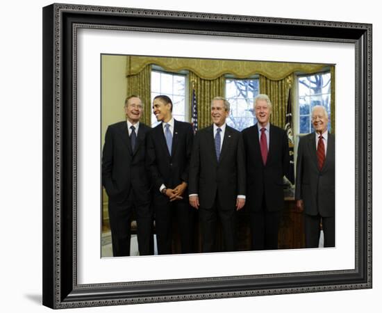
{"type": "Polygon", "coordinates": [[[279,248],[280,211],[268,211],[263,198],[260,211],[251,211],[249,227],[251,228],[252,250],[276,250],[279,248]]]}

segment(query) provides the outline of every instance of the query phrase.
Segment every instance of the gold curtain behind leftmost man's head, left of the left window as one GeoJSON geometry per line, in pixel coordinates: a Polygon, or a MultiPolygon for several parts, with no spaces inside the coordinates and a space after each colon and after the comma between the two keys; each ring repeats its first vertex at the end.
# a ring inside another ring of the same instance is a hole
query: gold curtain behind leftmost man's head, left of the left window
{"type": "Polygon", "coordinates": [[[138,74],[127,75],[127,96],[137,95],[142,100],[142,122],[151,125],[151,65],[146,65],[138,74]]]}

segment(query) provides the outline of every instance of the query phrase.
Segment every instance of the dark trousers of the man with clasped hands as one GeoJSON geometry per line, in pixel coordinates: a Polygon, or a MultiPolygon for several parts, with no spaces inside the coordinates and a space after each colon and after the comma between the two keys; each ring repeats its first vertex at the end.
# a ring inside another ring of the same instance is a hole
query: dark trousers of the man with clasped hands
{"type": "Polygon", "coordinates": [[[181,237],[181,253],[194,252],[195,212],[190,204],[180,200],[167,200],[166,204],[155,204],[154,211],[158,255],[172,254],[172,230],[175,222],[181,237]]]}

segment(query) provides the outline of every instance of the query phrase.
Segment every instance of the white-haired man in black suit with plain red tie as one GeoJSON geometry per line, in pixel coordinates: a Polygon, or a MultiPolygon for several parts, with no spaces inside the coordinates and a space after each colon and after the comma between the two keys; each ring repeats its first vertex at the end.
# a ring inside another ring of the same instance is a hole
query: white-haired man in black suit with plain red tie
{"type": "Polygon", "coordinates": [[[279,223],[284,208],[283,177],[289,150],[285,131],[269,123],[272,103],[267,95],[254,101],[258,122],[242,131],[247,165],[247,204],[252,250],[278,248],[279,223]]]}

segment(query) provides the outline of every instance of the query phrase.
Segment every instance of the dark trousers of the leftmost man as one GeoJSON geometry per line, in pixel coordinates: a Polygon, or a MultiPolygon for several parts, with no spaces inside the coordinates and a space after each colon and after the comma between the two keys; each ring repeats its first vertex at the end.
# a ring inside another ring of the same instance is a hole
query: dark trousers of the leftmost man
{"type": "Polygon", "coordinates": [[[133,211],[137,220],[138,249],[140,255],[152,255],[152,213],[150,199],[137,200],[133,188],[126,200],[114,202],[109,198],[110,229],[113,242],[113,256],[130,255],[131,218],[133,211]]]}

